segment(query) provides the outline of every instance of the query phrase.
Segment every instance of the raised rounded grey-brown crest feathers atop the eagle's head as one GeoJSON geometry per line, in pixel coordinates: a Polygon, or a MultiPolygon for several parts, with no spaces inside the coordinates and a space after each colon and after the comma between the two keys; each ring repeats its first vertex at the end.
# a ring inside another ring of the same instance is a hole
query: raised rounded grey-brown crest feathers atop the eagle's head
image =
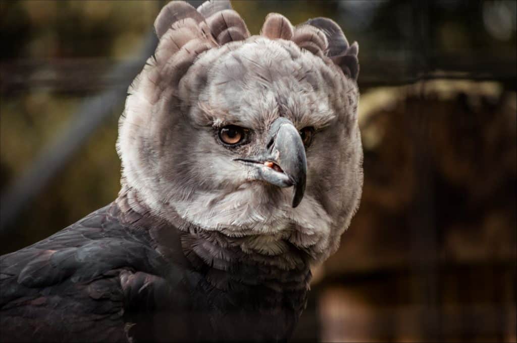
{"type": "MultiPolygon", "coordinates": [[[[172,75],[173,80],[160,78],[169,85],[179,81],[202,52],[250,37],[246,23],[228,0],[210,0],[197,9],[184,1],[172,1],[158,14],[155,30],[160,41],[151,67],[158,67],[159,74],[172,75]]],[[[314,55],[326,56],[345,75],[357,79],[358,45],[349,45],[339,25],[330,19],[315,18],[293,27],[283,15],[270,13],[261,35],[290,40],[314,55]]]]}

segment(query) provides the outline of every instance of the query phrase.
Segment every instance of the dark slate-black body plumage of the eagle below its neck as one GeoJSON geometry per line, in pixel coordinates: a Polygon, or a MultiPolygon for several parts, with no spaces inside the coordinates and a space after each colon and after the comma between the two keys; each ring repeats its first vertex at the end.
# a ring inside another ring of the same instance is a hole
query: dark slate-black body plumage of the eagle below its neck
{"type": "MultiPolygon", "coordinates": [[[[310,278],[261,261],[226,270],[214,234],[189,234],[137,213],[128,194],[1,258],[2,341],[285,340],[310,278]],[[209,260],[203,260],[208,257],[209,260]],[[281,290],[281,291],[280,291],[281,290]]],[[[237,239],[238,240],[238,239],[237,239]]],[[[294,249],[293,249],[294,250],[294,249]]],[[[246,259],[246,258],[244,258],[246,259]]]]}

